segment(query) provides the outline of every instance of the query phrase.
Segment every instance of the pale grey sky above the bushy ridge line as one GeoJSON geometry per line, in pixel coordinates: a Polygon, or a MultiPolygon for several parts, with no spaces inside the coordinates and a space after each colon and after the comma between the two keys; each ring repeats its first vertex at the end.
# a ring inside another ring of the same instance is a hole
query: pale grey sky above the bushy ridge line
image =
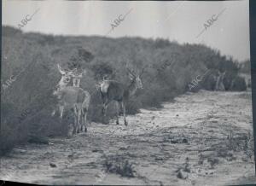
{"type": "Polygon", "coordinates": [[[21,27],[23,32],[109,38],[168,38],[180,44],[206,44],[238,61],[250,58],[248,0],[3,0],[2,12],[3,26],[18,28],[21,20],[27,18],[29,21],[21,27]]]}

